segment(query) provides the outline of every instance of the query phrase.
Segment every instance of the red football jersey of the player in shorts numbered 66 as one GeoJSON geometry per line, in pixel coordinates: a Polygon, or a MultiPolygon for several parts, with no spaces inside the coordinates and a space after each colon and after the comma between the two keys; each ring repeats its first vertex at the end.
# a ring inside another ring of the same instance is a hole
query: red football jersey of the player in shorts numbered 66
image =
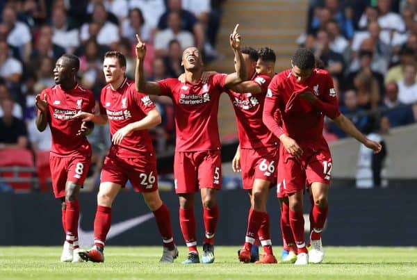
{"type": "Polygon", "coordinates": [[[235,110],[240,147],[256,149],[277,145],[278,139],[262,122],[263,103],[271,77],[256,74],[252,81],[261,87],[261,93],[252,94],[248,92],[240,94],[233,90],[227,90],[235,110]]]}

